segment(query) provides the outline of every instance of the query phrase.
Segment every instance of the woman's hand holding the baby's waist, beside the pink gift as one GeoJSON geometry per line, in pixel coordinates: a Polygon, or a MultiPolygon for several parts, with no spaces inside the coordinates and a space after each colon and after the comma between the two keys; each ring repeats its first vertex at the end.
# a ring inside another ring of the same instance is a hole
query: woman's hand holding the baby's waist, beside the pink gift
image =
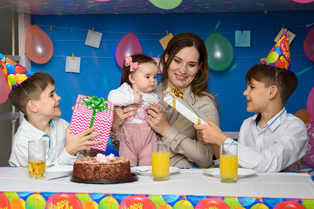
{"type": "Polygon", "coordinates": [[[111,131],[114,133],[120,132],[121,125],[124,124],[124,120],[130,116],[135,116],[137,114],[138,107],[114,107],[114,118],[112,121],[111,131]]]}

